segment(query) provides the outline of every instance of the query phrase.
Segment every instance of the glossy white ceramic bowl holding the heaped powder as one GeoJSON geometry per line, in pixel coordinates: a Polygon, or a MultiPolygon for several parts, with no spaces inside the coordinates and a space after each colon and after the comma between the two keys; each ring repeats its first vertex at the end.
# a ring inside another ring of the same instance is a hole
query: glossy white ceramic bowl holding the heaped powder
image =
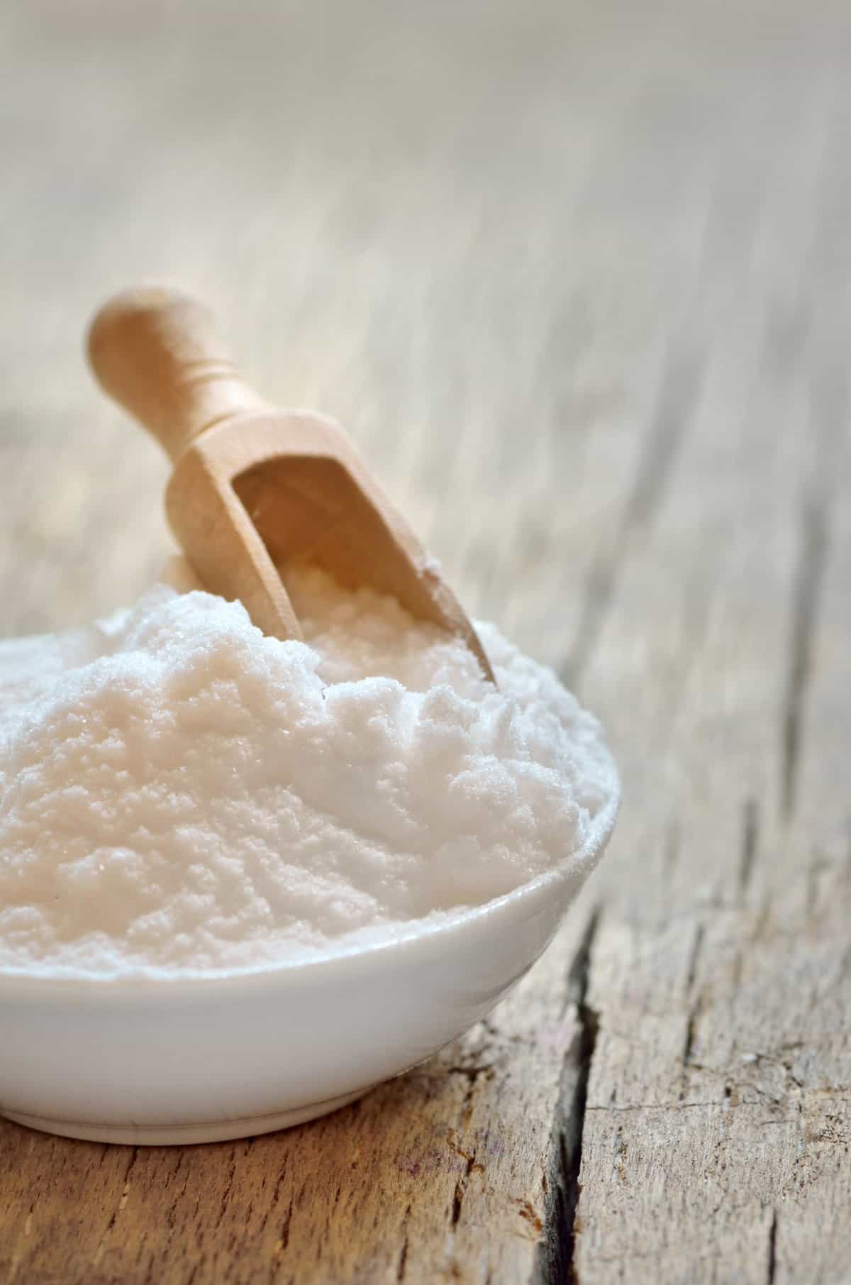
{"type": "Polygon", "coordinates": [[[99,1142],[211,1142],[298,1124],[436,1052],[553,937],[611,834],[438,925],[231,975],[0,973],[0,1113],[99,1142]]]}

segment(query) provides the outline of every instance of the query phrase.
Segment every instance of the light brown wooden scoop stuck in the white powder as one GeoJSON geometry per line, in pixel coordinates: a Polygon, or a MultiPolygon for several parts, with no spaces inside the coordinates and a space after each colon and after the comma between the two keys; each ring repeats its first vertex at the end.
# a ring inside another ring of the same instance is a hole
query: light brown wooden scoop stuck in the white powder
{"type": "Polygon", "coordinates": [[[267,405],[202,303],[159,287],[118,294],[91,324],[89,359],[105,391],[166,447],[168,520],[211,591],[239,598],[266,634],[300,637],[276,568],[286,577],[295,563],[317,565],[463,639],[493,681],[439,565],[349,437],[334,420],[267,405]]]}

